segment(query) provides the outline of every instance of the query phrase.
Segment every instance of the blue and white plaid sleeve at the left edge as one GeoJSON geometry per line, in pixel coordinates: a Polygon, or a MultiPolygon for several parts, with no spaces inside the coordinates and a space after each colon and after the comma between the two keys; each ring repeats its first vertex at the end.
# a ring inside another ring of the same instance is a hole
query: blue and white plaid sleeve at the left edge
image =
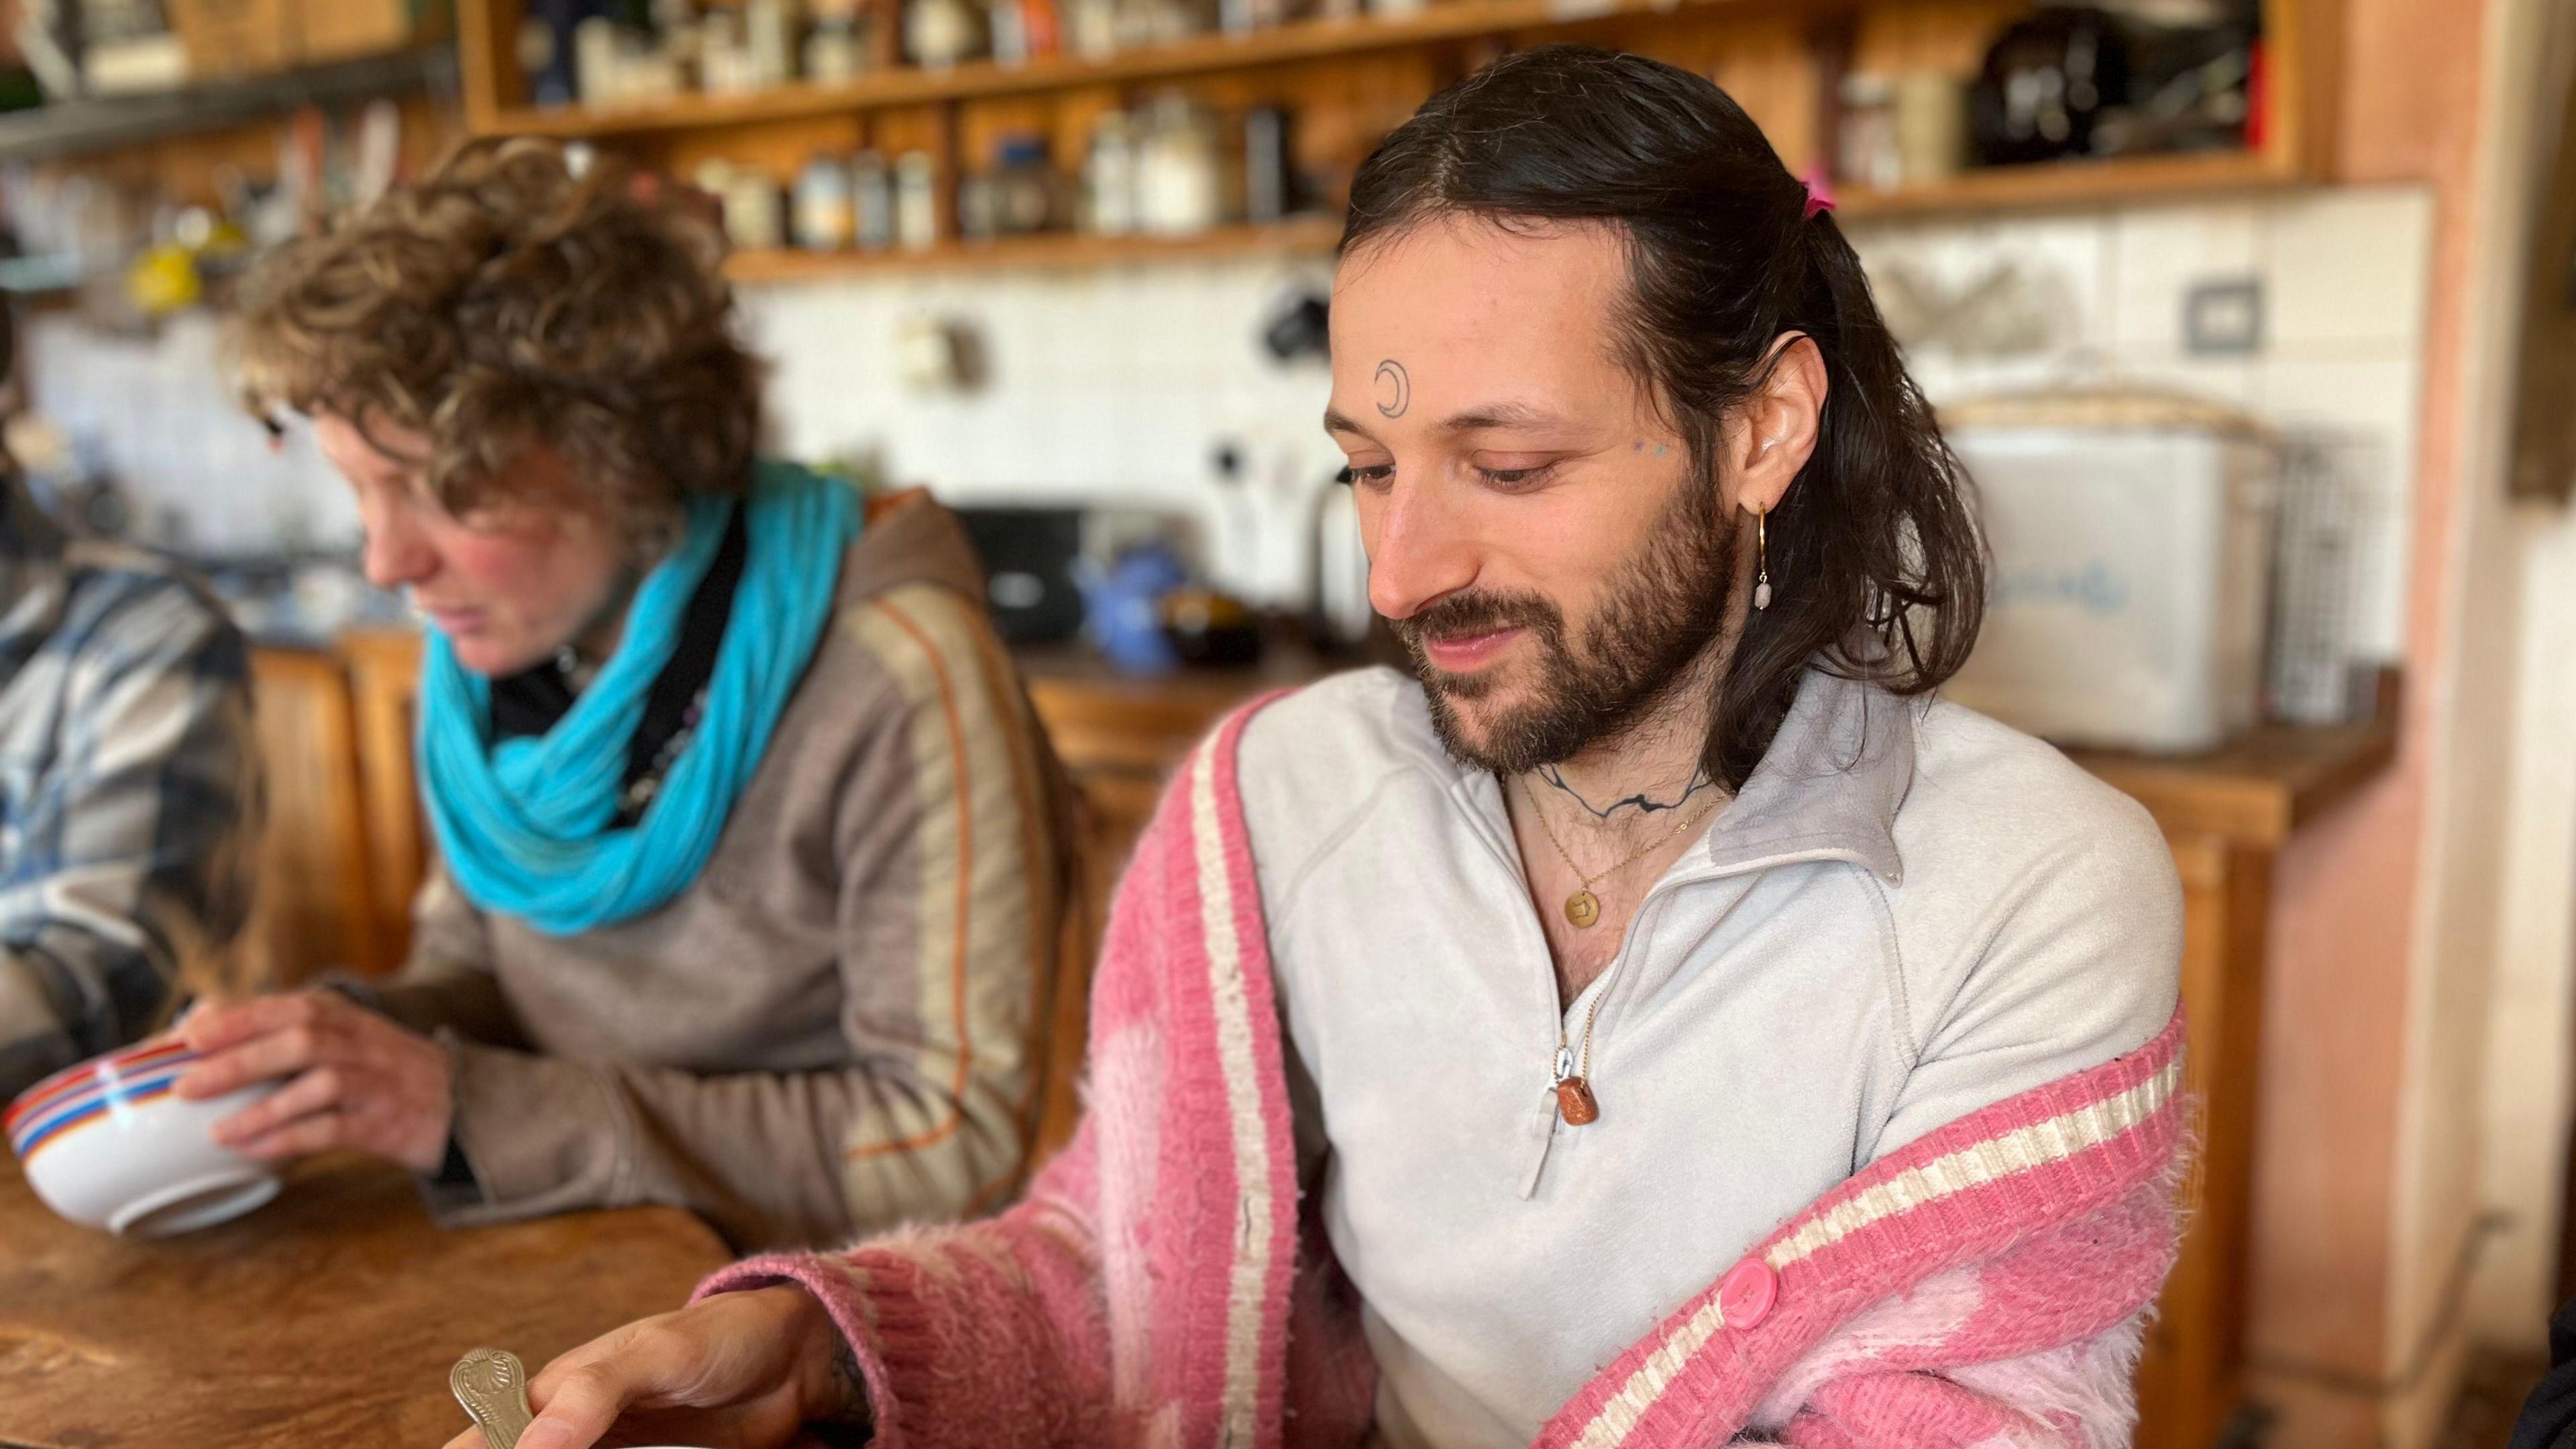
{"type": "Polygon", "coordinates": [[[149,1031],[250,905],[250,660],[170,575],[72,570],[0,686],[0,1096],[149,1031]]]}

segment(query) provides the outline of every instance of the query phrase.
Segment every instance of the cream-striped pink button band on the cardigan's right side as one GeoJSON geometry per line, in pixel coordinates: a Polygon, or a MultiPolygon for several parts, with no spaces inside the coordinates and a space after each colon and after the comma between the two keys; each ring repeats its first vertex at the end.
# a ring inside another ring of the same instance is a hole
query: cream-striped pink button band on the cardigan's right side
{"type": "Polygon", "coordinates": [[[1716,1289],[1695,1297],[1595,1374],[1546,1423],[1540,1449],[1726,1439],[1744,1426],[1759,1385],[1860,1307],[2161,1181],[2182,1145],[2179,1052],[2177,1011],[2138,1052],[1973,1111],[1870,1163],[1754,1248],[1754,1258],[1780,1266],[1780,1302],[1759,1328],[1728,1330],[1716,1289]],[[2087,1132],[2099,1140],[2087,1142],[2087,1132]]]}

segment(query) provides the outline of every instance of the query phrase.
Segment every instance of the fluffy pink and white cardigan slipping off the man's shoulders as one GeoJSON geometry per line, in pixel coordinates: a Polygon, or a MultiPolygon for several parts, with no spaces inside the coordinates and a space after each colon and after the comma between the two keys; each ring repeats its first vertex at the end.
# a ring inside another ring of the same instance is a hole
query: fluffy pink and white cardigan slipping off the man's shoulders
{"type": "MultiPolygon", "coordinates": [[[[858,1354],[884,1449],[1303,1449],[1368,1431],[1347,1279],[1298,1212],[1234,717],[1118,890],[1090,1116],[1025,1201],[793,1279],[858,1354]]],[[[1540,1449],[2128,1444],[2174,1256],[2182,1021],[1824,1194],[1582,1387],[1540,1449]]]]}

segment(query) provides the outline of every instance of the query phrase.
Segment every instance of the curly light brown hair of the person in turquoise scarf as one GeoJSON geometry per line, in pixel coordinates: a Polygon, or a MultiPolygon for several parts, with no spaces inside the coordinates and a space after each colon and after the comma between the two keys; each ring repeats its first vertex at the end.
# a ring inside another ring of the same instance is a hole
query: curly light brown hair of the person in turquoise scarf
{"type": "MultiPolygon", "coordinates": [[[[559,449],[629,531],[693,492],[750,485],[760,364],[734,335],[714,232],[551,142],[474,139],[242,281],[229,353],[242,402],[392,423],[451,513],[495,503],[531,441],[559,449]]],[[[381,446],[381,443],[379,443],[381,446]]]]}

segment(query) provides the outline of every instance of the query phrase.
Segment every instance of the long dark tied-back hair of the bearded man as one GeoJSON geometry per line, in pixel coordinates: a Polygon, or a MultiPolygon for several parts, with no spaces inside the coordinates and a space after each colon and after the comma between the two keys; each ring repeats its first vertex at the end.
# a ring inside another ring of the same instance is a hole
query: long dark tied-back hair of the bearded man
{"type": "MultiPolygon", "coordinates": [[[[1342,255],[1443,214],[1605,222],[1628,242],[1628,366],[1705,477],[1731,407],[1803,333],[1829,394],[1816,451],[1770,516],[1752,614],[1703,750],[1741,789],[1811,665],[1896,694],[1950,678],[1986,608],[1968,482],[1878,317],[1860,258],[1762,126],[1713,83],[1587,46],[1510,54],[1432,95],[1350,188],[1342,255]]],[[[1710,580],[1726,588],[1728,580],[1710,580]]]]}

